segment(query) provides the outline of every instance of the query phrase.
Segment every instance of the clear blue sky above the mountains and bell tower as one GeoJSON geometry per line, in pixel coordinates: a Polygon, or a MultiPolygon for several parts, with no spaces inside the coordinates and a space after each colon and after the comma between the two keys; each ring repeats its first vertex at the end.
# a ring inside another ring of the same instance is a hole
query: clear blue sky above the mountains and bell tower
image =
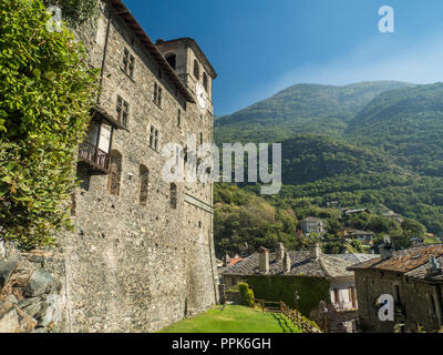
{"type": "Polygon", "coordinates": [[[153,41],[192,37],[218,73],[215,114],[297,83],[443,78],[441,0],[125,0],[153,41]],[[395,32],[381,33],[391,6],[395,32]]]}

